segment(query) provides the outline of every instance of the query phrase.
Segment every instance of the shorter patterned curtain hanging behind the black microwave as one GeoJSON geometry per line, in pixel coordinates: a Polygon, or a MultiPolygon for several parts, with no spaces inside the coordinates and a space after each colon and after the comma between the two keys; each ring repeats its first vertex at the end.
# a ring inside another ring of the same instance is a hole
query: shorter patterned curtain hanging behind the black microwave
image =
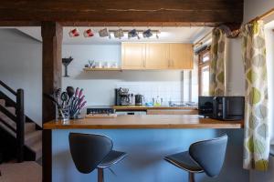
{"type": "Polygon", "coordinates": [[[225,59],[227,37],[223,30],[212,31],[211,63],[210,63],[210,96],[225,96],[225,59]]]}

